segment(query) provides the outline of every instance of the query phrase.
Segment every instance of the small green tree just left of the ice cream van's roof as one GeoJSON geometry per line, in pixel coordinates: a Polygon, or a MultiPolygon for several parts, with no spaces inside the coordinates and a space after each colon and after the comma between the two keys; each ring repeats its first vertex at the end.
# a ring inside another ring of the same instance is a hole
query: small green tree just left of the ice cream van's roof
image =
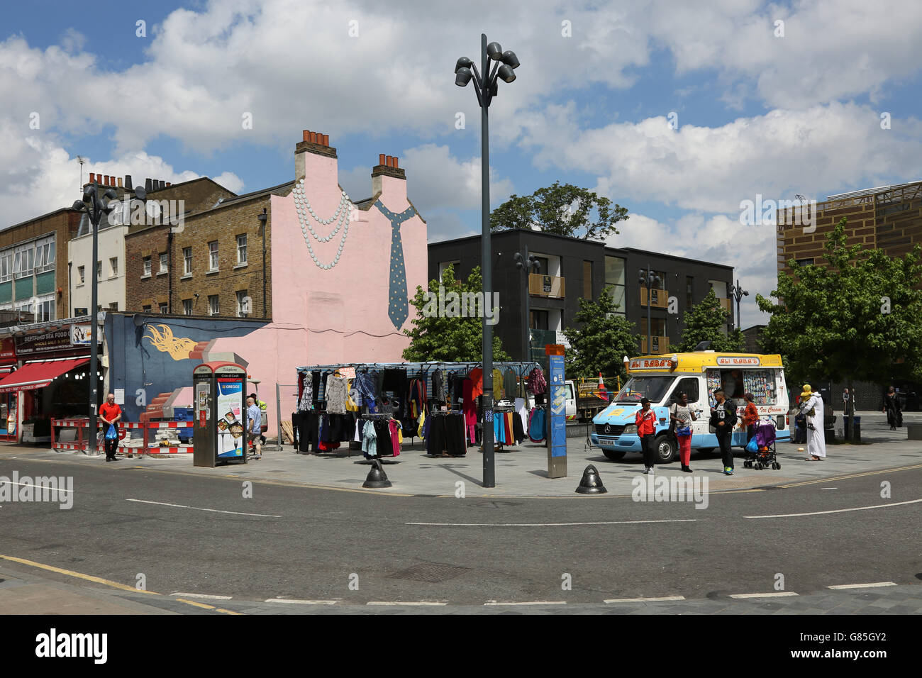
{"type": "Polygon", "coordinates": [[[601,372],[607,376],[620,375],[624,382],[627,377],[624,356],[636,355],[640,341],[633,324],[615,314],[617,310],[610,287],[602,291],[597,301],[579,300],[579,311],[573,317],[579,327],[567,327],[563,332],[571,347],[566,360],[568,378],[596,376],[601,372]]]}

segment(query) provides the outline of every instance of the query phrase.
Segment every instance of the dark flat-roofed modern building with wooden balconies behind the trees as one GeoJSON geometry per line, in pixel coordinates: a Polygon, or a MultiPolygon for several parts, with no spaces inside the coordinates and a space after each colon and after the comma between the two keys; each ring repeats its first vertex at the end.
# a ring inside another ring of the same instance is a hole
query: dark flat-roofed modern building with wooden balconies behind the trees
{"type": "MultiPolygon", "coordinates": [[[[730,311],[727,298],[733,268],[680,256],[661,255],[630,247],[615,248],[597,241],[562,237],[539,231],[501,231],[491,236],[493,290],[499,293],[501,312],[494,332],[514,360],[544,360],[544,345],[566,344],[563,330],[575,325],[580,299],[597,299],[611,286],[619,310],[641,335],[639,353],[663,353],[669,342],[679,340],[682,316],[692,304],[703,300],[712,288],[730,311]],[[528,327],[532,355],[525,357],[526,278],[515,265],[515,253],[538,259],[537,272],[528,276],[528,327]],[[659,283],[650,293],[651,346],[647,351],[647,295],[639,283],[639,271],[652,268],[659,283]],[[669,298],[675,298],[677,313],[668,312],[669,298]]],[[[429,244],[429,279],[440,280],[454,264],[455,278],[467,278],[480,264],[480,236],[429,244]]],[[[727,317],[727,329],[732,321],[727,317]]]]}

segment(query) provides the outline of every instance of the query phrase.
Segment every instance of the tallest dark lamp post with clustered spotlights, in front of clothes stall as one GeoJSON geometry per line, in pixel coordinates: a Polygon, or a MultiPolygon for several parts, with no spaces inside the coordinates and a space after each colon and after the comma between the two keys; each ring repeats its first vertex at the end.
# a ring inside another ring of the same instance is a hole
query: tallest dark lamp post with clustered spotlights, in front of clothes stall
{"type": "MultiPolygon", "coordinates": [[[[487,36],[480,34],[480,66],[462,56],[455,64],[455,85],[466,87],[471,78],[474,80],[474,92],[480,105],[480,220],[481,260],[483,262],[483,299],[484,303],[493,298],[491,242],[490,242],[490,129],[488,109],[490,103],[499,93],[499,80],[509,83],[515,79],[514,68],[519,61],[514,52],[502,51],[499,42],[487,44],[487,36]],[[493,64],[490,71],[490,62],[493,64]],[[502,62],[502,64],[501,64],[502,62]]],[[[493,327],[488,323],[487,314],[483,317],[483,486],[496,487],[495,459],[493,458],[493,327]]]]}

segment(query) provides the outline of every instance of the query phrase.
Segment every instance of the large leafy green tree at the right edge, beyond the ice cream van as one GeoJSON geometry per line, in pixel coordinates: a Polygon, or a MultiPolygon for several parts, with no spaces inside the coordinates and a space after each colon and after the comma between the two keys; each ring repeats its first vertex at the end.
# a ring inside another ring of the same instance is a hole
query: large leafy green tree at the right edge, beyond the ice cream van
{"type": "Polygon", "coordinates": [[[772,314],[762,346],[781,353],[794,384],[922,379],[922,266],[905,256],[847,244],[846,220],[826,236],[828,266],[778,273],[778,289],[756,301],[772,314]]]}

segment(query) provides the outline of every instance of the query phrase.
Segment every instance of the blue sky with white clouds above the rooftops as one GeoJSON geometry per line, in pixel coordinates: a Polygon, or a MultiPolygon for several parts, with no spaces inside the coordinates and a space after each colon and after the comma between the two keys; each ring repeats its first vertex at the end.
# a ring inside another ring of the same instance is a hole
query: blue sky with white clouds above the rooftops
{"type": "Polygon", "coordinates": [[[236,193],[293,179],[301,130],[371,196],[400,158],[431,242],[479,233],[480,112],[455,87],[480,33],[521,65],[490,108],[491,207],[554,181],[628,208],[608,242],[776,286],[743,201],[922,179],[922,3],[393,0],[16,3],[0,26],[0,229],[89,172],[236,193]],[[91,8],[91,11],[89,11],[91,8]],[[252,120],[252,125],[245,121],[252,120]],[[461,124],[461,122],[463,124],[461,124]]]}

